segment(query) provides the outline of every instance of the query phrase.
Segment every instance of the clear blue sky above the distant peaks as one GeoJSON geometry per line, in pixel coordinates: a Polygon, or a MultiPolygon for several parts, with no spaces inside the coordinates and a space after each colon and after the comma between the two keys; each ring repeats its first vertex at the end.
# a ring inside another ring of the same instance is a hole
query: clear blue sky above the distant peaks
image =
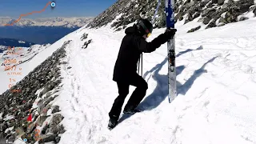
{"type": "MultiPolygon", "coordinates": [[[[26,18],[86,17],[97,16],[117,0],[55,0],[54,10],[50,6],[41,14],[26,18]]],[[[42,10],[48,0],[0,0],[0,17],[18,18],[20,14],[42,10]]]]}

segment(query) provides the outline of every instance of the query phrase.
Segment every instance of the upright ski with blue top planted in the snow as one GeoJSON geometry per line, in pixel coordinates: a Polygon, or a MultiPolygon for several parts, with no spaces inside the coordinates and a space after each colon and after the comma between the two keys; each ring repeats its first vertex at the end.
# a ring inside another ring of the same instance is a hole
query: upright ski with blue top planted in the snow
{"type": "MultiPolygon", "coordinates": [[[[166,28],[174,28],[174,0],[166,0],[166,28]]],[[[175,64],[175,41],[174,38],[167,42],[168,50],[168,89],[169,102],[176,98],[176,64],[175,64]]]]}

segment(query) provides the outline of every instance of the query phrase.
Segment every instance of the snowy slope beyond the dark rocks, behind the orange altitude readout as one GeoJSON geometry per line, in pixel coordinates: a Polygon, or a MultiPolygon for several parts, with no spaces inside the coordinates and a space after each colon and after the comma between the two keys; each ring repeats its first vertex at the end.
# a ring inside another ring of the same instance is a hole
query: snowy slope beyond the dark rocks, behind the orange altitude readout
{"type": "MultiPolygon", "coordinates": [[[[43,61],[34,61],[34,58],[42,58],[46,59],[50,51],[46,51],[46,55],[40,54],[42,51],[44,51],[47,47],[49,47],[50,44],[46,46],[41,46],[41,45],[34,45],[31,46],[30,48],[27,47],[14,47],[14,54],[8,54],[8,50],[5,50],[1,55],[2,57],[0,58],[0,79],[1,79],[1,84],[0,84],[0,93],[2,94],[6,90],[9,89],[9,84],[16,84],[18,81],[22,80],[27,74],[30,73],[31,70],[34,70],[38,64],[40,64],[43,61]],[[39,54],[39,56],[38,56],[39,54]],[[47,57],[46,57],[47,56],[47,57]],[[16,70],[5,70],[5,66],[14,66],[14,63],[11,64],[5,64],[5,59],[16,59],[16,70]],[[32,60],[33,59],[33,60],[32,60]],[[19,64],[20,63],[20,64],[19,64]],[[21,69],[21,70],[19,70],[21,69]],[[11,72],[21,72],[21,74],[11,74],[11,72]],[[10,82],[10,78],[14,79],[14,81],[10,82]]],[[[53,49],[54,50],[54,49],[53,49]]],[[[54,51],[53,51],[54,52],[54,51]]]]}

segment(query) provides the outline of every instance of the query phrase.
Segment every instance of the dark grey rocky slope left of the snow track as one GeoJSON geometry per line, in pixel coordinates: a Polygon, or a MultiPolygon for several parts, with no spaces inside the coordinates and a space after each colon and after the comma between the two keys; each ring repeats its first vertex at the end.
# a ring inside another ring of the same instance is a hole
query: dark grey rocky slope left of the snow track
{"type": "Polygon", "coordinates": [[[37,140],[39,143],[59,142],[58,134],[65,132],[64,127],[59,124],[63,116],[58,113],[59,107],[53,106],[51,101],[58,97],[56,93],[61,88],[59,65],[62,64],[61,58],[66,56],[65,47],[69,42],[65,42],[46,61],[0,95],[0,139],[14,139],[19,135],[22,139],[26,138],[29,143],[37,140]],[[40,100],[35,103],[38,107],[34,109],[32,106],[36,98],[40,100]],[[47,113],[48,110],[51,111],[50,114],[47,113]],[[29,114],[32,114],[33,122],[27,121],[29,114]],[[49,123],[46,122],[46,118],[51,115],[49,123]],[[43,126],[39,139],[34,138],[37,125],[43,126]]]}

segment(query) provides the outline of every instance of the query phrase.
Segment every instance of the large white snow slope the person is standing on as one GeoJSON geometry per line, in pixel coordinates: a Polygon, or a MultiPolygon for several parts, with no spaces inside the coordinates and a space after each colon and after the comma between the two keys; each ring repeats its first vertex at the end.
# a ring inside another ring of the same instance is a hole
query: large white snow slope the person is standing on
{"type": "MultiPolygon", "coordinates": [[[[82,27],[22,66],[27,74],[63,42],[72,40],[63,59],[68,64],[61,66],[64,85],[53,102],[64,116],[61,124],[66,132],[60,144],[253,144],[255,22],[256,18],[250,18],[189,34],[186,31],[198,26],[198,22],[177,23],[178,97],[168,102],[164,44],[151,54],[143,54],[143,78],[149,85],[146,98],[139,105],[144,111],[129,118],[121,116],[122,122],[111,131],[106,128],[108,112],[118,96],[112,74],[124,30],[82,27]],[[81,49],[84,33],[93,42],[81,49]],[[69,66],[72,68],[67,69],[69,66]]],[[[155,29],[148,41],[163,32],[164,29],[155,29]]],[[[130,94],[133,90],[134,86],[130,86],[130,94]]]]}

